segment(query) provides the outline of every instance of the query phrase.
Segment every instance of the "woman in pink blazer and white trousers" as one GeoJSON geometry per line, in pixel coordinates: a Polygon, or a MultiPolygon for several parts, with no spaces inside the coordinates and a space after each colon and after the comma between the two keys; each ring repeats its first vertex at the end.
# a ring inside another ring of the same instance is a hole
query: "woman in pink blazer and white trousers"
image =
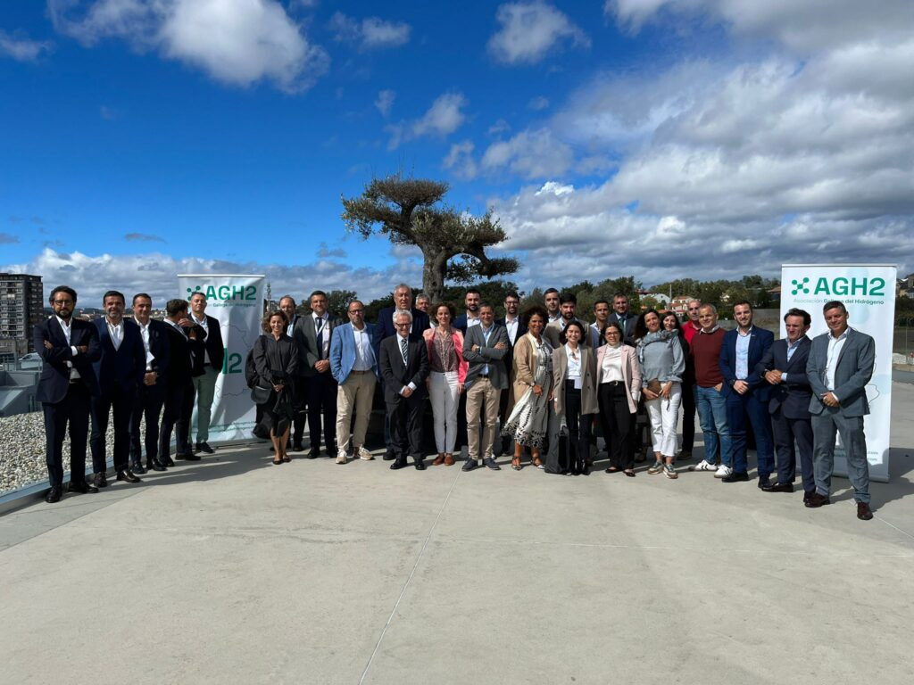
{"type": "Polygon", "coordinates": [[[432,466],[453,466],[454,441],[457,439],[457,406],[463,392],[468,364],[463,360],[463,333],[451,327],[454,308],[450,304],[435,307],[434,328],[422,332],[429,352],[429,388],[431,415],[435,423],[435,446],[438,457],[432,466]]]}

